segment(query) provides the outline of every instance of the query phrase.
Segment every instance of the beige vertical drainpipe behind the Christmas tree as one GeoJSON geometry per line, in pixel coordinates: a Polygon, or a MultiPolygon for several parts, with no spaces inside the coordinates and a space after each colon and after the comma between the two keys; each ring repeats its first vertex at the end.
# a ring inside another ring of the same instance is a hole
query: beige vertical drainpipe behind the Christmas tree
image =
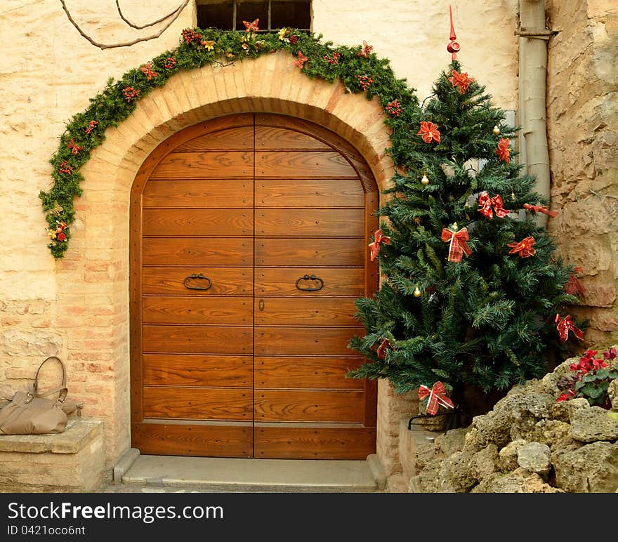
{"type": "MultiPolygon", "coordinates": [[[[519,155],[524,173],[537,180],[535,190],[549,199],[546,78],[547,41],[555,34],[545,27],[545,0],[519,0],[519,155]]],[[[539,225],[547,225],[539,213],[539,225]]]]}

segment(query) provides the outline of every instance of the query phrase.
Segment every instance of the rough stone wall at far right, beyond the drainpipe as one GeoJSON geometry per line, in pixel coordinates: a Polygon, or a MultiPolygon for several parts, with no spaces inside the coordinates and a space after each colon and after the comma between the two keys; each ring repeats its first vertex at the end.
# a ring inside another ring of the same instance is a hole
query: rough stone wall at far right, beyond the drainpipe
{"type": "Polygon", "coordinates": [[[550,232],[584,270],[586,340],[618,338],[618,6],[612,0],[548,0],[550,232]]]}

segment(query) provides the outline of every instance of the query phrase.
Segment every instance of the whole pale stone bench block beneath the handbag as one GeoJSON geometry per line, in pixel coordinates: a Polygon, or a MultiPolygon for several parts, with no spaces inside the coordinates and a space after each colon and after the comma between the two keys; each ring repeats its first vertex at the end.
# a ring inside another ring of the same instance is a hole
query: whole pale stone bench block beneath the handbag
{"type": "Polygon", "coordinates": [[[83,493],[103,481],[103,422],[70,420],[56,435],[0,436],[0,492],[83,493]]]}

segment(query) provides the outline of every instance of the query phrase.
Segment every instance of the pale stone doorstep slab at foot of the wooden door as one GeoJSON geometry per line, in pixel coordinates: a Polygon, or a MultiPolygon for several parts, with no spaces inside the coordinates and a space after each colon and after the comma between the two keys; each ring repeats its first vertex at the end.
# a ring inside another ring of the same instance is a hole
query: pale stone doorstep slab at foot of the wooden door
{"type": "MultiPolygon", "coordinates": [[[[367,461],[138,456],[122,484],[207,491],[373,493],[367,461]]],[[[381,484],[380,484],[381,485],[381,484]]]]}

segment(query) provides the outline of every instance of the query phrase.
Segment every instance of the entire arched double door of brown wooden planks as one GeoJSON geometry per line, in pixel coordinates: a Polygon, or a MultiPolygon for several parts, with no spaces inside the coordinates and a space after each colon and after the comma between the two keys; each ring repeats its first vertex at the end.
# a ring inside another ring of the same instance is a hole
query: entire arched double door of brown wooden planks
{"type": "Polygon", "coordinates": [[[132,446],[374,453],[376,383],[345,375],[377,204],[362,157],[308,121],[240,114],[159,145],[131,191],[132,446]]]}

